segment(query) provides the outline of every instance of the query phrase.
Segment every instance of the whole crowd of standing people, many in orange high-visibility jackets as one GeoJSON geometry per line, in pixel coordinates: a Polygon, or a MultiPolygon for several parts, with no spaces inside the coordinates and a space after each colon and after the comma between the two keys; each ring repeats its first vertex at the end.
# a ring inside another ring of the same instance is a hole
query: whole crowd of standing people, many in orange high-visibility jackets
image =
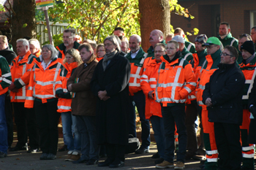
{"type": "Polygon", "coordinates": [[[139,35],[113,33],[97,45],[66,29],[61,45],[42,49],[37,39],[18,39],[18,56],[0,36],[0,158],[41,150],[40,160],[56,159],[61,117],[65,161],[124,166],[136,107],[141,145],[132,152],[149,152],[152,126],[157,169],[185,169],[198,155],[206,155],[201,169],[254,169],[256,26],[236,39],[223,22],[219,37],[200,34],[195,44],[181,28],[166,36],[155,29],[147,52],[139,35]]]}

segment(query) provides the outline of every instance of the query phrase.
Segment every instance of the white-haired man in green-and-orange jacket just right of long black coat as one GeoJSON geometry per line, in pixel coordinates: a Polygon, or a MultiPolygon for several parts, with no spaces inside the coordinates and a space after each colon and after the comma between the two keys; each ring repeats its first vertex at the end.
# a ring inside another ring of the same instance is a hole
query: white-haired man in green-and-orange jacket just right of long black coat
{"type": "Polygon", "coordinates": [[[135,125],[135,106],[138,109],[142,128],[142,144],[139,150],[135,152],[138,154],[146,153],[149,150],[150,144],[150,125],[149,121],[145,118],[145,96],[140,87],[140,77],[143,74],[143,63],[147,54],[140,47],[141,38],[138,35],[132,35],[129,38],[129,48],[131,52],[126,55],[126,58],[131,64],[131,74],[129,79],[129,132],[136,136],[136,125],[135,125]]]}

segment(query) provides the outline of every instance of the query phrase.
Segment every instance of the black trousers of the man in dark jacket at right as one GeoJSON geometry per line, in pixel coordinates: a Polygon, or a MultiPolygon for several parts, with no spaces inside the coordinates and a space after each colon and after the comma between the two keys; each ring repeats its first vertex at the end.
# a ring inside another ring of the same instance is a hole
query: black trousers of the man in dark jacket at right
{"type": "Polygon", "coordinates": [[[241,169],[242,150],[239,125],[214,123],[215,139],[219,152],[219,169],[241,169]]]}

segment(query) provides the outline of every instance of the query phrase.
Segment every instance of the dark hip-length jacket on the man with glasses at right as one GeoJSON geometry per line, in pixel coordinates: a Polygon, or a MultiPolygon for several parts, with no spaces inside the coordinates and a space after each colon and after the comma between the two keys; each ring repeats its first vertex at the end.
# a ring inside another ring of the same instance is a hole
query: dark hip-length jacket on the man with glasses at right
{"type": "Polygon", "coordinates": [[[242,95],[244,74],[236,63],[219,63],[219,69],[211,75],[203,91],[203,103],[211,98],[208,109],[209,122],[235,123],[241,125],[243,120],[242,95]]]}

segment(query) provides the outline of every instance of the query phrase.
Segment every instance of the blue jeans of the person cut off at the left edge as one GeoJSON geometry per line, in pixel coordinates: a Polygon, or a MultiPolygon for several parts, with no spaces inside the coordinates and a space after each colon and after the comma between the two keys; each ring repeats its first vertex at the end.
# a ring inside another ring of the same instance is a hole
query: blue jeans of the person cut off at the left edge
{"type": "Polygon", "coordinates": [[[7,141],[7,121],[4,111],[5,94],[0,95],[0,151],[7,154],[8,141],[7,141]]]}

